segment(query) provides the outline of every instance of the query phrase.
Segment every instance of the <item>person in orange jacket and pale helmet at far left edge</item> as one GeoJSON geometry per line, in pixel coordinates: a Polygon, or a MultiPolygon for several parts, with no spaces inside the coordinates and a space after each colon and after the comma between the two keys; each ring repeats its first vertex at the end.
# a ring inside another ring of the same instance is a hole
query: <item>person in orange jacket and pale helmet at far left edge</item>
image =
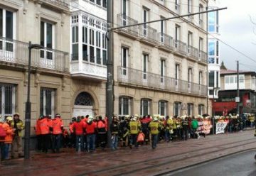
{"type": "Polygon", "coordinates": [[[0,139],[1,142],[1,160],[7,160],[8,153],[9,153],[9,147],[13,141],[13,135],[14,135],[14,129],[11,128],[11,121],[13,121],[13,118],[11,116],[8,116],[6,118],[6,122],[4,120],[1,120],[0,126],[4,128],[4,131],[6,131],[6,136],[3,139],[0,139]]]}

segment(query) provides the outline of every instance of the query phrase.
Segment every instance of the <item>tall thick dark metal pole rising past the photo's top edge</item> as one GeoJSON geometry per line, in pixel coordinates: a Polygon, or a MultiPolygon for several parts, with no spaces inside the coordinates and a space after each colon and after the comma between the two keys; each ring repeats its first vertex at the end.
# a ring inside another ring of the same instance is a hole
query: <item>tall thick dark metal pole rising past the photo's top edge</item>
{"type": "Polygon", "coordinates": [[[113,116],[113,1],[107,1],[107,84],[106,84],[106,112],[107,112],[107,145],[111,146],[112,134],[110,126],[112,124],[113,116]]]}

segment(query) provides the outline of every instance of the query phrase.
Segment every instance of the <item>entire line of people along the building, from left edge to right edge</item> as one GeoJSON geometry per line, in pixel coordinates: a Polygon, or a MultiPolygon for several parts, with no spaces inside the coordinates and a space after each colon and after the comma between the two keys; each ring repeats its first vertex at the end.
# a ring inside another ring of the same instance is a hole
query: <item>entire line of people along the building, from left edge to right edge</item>
{"type": "MultiPolygon", "coordinates": [[[[214,125],[226,122],[226,133],[243,131],[245,127],[254,126],[252,114],[242,116],[215,116],[214,125]]],[[[35,132],[37,150],[59,153],[60,148],[75,148],[77,152],[95,152],[95,148],[104,150],[107,146],[107,133],[111,133],[111,149],[119,147],[138,148],[139,145],[151,145],[156,148],[159,141],[186,141],[188,138],[206,137],[212,131],[213,119],[210,116],[113,116],[110,128],[107,117],[78,116],[73,117],[68,128],[64,128],[60,114],[40,116],[36,121],[35,132]]],[[[18,113],[0,118],[1,160],[23,157],[21,131],[23,121],[18,113]],[[11,146],[11,156],[9,148],[11,146]]]]}

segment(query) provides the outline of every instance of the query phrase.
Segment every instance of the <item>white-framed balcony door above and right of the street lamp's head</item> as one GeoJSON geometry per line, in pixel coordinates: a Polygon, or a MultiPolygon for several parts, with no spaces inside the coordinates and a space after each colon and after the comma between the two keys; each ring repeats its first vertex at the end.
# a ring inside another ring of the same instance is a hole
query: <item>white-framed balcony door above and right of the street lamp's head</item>
{"type": "Polygon", "coordinates": [[[44,47],[41,50],[41,67],[53,69],[54,65],[54,25],[41,21],[41,45],[44,47]]]}

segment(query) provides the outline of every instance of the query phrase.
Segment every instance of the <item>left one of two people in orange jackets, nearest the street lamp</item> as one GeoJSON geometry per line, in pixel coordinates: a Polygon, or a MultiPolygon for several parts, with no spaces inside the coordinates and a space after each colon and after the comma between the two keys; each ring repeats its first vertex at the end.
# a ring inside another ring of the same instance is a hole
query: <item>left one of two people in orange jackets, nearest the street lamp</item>
{"type": "Polygon", "coordinates": [[[50,119],[48,119],[47,116],[43,116],[38,123],[38,128],[41,131],[42,151],[48,153],[50,143],[50,119]]]}

